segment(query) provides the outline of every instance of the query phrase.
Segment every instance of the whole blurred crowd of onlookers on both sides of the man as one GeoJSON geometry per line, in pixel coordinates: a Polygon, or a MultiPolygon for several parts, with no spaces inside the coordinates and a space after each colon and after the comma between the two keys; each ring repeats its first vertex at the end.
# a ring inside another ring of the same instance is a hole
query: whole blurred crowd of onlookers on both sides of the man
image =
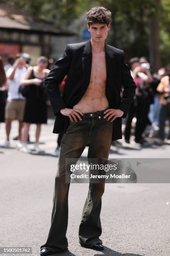
{"type": "MultiPolygon", "coordinates": [[[[125,119],[125,143],[148,143],[152,138],[159,145],[170,140],[170,64],[153,73],[145,57],[130,59],[129,66],[137,86],[133,103],[125,119]],[[168,125],[167,125],[168,124],[168,125]],[[165,129],[166,126],[166,129],[165,129]]],[[[47,123],[47,92],[45,78],[52,67],[52,59],[45,56],[30,66],[29,54],[17,54],[15,58],[0,57],[0,123],[5,122],[6,138],[1,147],[10,147],[13,120],[18,120],[18,149],[30,153],[29,129],[36,124],[35,153],[39,153],[41,125],[47,123]]],[[[60,92],[64,90],[64,78],[60,92]]],[[[63,133],[57,137],[57,147],[52,154],[58,156],[63,133]]],[[[116,142],[112,143],[113,145],[116,142]]]]}

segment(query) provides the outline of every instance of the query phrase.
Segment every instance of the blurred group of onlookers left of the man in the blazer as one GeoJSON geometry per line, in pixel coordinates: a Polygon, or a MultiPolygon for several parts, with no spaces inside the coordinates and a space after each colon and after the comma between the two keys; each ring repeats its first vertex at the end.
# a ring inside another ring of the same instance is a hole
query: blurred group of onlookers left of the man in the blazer
{"type": "Polygon", "coordinates": [[[29,129],[36,124],[34,150],[39,152],[42,123],[47,123],[47,93],[45,78],[50,72],[45,56],[30,66],[29,54],[17,54],[15,58],[0,58],[0,122],[5,122],[6,138],[1,147],[10,147],[13,120],[18,120],[18,149],[30,153],[27,144],[29,129]]]}

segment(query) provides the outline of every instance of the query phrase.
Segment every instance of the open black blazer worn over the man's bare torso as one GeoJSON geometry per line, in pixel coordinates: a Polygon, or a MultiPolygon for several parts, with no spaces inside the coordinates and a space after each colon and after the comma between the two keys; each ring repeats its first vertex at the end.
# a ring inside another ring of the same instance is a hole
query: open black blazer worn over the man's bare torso
{"type": "MultiPolygon", "coordinates": [[[[124,52],[105,43],[106,55],[106,97],[110,108],[117,108],[124,112],[125,118],[135,95],[135,82],[125,64],[124,52]],[[124,87],[122,98],[120,91],[124,87]]],[[[67,44],[62,58],[58,59],[47,78],[45,85],[55,118],[53,133],[67,130],[69,117],[60,113],[62,108],[73,108],[85,94],[90,82],[92,67],[91,41],[67,44]],[[67,74],[65,87],[60,95],[58,84],[67,74]]],[[[122,118],[113,121],[112,140],[122,138],[122,118]]]]}

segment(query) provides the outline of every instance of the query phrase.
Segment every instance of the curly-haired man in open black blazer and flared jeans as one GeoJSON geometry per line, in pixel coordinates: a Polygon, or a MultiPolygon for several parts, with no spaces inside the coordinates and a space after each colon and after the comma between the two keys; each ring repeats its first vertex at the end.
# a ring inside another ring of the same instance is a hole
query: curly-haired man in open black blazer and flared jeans
{"type": "MultiPolygon", "coordinates": [[[[64,131],[55,176],[53,209],[47,241],[40,255],[66,251],[68,192],[65,160],[79,159],[88,146],[88,159],[108,158],[113,140],[122,138],[122,118],[135,95],[135,83],[125,64],[124,52],[106,44],[111,13],[91,8],[86,16],[91,39],[68,44],[56,61],[45,84],[56,115],[53,133],[64,131]],[[62,96],[56,84],[67,74],[62,96]],[[120,91],[124,87],[122,97],[120,91]]],[[[105,183],[90,183],[79,227],[79,242],[86,248],[103,250],[100,222],[105,183]]]]}

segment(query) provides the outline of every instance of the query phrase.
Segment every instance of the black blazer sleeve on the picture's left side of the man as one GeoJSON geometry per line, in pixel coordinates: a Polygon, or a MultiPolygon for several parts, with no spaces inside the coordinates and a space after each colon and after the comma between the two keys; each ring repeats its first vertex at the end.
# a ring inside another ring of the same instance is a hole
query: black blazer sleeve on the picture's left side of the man
{"type": "Polygon", "coordinates": [[[69,71],[70,64],[70,46],[69,44],[67,44],[63,56],[55,62],[54,67],[51,69],[50,73],[47,75],[47,78],[45,79],[45,86],[47,88],[47,94],[51,102],[54,115],[57,115],[57,113],[62,108],[66,108],[65,102],[63,101],[62,96],[60,94],[58,84],[62,82],[65,75],[69,71]]]}

